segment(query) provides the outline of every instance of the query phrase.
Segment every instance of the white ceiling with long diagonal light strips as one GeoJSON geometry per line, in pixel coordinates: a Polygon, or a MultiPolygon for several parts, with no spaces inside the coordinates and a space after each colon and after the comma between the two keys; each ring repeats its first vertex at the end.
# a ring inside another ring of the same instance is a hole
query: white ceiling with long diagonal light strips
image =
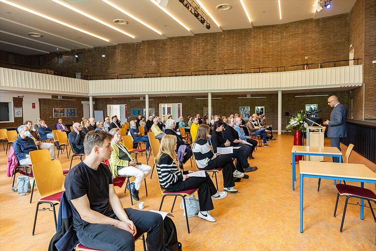
{"type": "Polygon", "coordinates": [[[102,0],[81,0],[81,2],[72,5],[63,1],[105,23],[132,34],[136,37],[135,39],[82,16],[52,0],[9,1],[109,40],[109,42],[103,41],[0,2],[0,49],[18,54],[33,55],[323,18],[350,12],[356,0],[332,0],[331,9],[323,9],[316,13],[313,13],[314,8],[312,7],[316,0],[281,0],[282,20],[279,16],[278,0],[243,0],[252,24],[249,23],[239,0],[201,0],[220,24],[220,27],[218,27],[210,20],[210,30],[203,27],[179,0],[169,0],[165,9],[186,24],[190,31],[175,22],[150,0],[109,0],[159,30],[162,35],[136,22],[102,0]],[[216,6],[223,3],[231,4],[232,9],[228,11],[216,10],[216,6]],[[116,25],[113,23],[115,19],[125,19],[129,23],[127,25],[116,25]],[[27,35],[29,32],[40,33],[43,37],[32,38],[27,35]]]}

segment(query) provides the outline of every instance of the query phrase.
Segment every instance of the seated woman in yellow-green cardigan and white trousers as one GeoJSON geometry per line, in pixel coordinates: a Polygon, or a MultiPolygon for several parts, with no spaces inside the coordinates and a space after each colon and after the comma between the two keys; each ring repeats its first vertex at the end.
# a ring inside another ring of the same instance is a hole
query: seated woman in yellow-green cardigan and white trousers
{"type": "MultiPolygon", "coordinates": [[[[131,123],[134,123],[134,121],[131,121],[131,123]]],[[[151,167],[144,164],[137,164],[137,161],[133,159],[128,151],[128,148],[122,142],[120,142],[120,128],[111,129],[110,134],[114,136],[111,141],[111,147],[114,149],[114,151],[112,151],[111,158],[108,161],[110,162],[114,178],[120,175],[130,175],[136,177],[136,180],[131,183],[130,186],[127,185],[127,189],[131,193],[133,199],[139,201],[139,190],[141,183],[151,172],[151,167]]]]}

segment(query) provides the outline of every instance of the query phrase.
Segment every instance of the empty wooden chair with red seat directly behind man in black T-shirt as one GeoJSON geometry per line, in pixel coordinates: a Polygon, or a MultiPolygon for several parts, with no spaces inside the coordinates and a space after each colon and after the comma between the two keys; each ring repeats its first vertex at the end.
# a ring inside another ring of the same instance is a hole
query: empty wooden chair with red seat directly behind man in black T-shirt
{"type": "Polygon", "coordinates": [[[52,207],[56,229],[57,223],[55,205],[60,203],[61,196],[64,192],[63,168],[61,167],[59,160],[49,160],[46,162],[33,164],[33,174],[41,199],[38,201],[37,208],[35,210],[32,235],[34,235],[38,211],[50,210],[49,208],[45,207],[39,209],[39,205],[41,204],[49,204],[50,207],[52,207]]]}

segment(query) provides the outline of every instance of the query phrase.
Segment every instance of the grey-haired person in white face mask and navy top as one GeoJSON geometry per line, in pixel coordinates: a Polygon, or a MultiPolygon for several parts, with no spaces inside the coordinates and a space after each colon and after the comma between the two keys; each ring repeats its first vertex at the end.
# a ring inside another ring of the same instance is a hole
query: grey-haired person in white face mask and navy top
{"type": "Polygon", "coordinates": [[[30,138],[29,128],[25,125],[18,127],[18,138],[13,143],[14,153],[17,156],[20,165],[31,165],[30,155],[31,151],[38,150],[34,140],[30,138]]]}

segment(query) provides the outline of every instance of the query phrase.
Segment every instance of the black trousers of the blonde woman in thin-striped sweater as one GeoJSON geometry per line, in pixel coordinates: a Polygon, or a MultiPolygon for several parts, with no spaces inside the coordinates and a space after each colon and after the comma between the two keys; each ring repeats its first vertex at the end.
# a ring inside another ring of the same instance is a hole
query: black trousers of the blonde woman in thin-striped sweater
{"type": "Polygon", "coordinates": [[[185,181],[178,181],[166,187],[168,192],[180,192],[188,189],[198,188],[198,202],[201,211],[210,211],[214,209],[211,195],[217,193],[217,188],[211,181],[209,174],[205,173],[205,177],[189,177],[185,181]]]}

